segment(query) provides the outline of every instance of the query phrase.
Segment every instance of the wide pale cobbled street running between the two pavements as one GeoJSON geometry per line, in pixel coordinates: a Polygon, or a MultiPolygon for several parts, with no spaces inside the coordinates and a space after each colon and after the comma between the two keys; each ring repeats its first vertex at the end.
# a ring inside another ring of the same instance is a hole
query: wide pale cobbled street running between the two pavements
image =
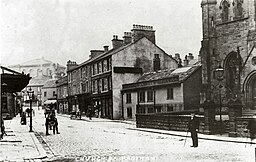
{"type": "Polygon", "coordinates": [[[33,120],[48,160],[61,161],[254,161],[255,146],[199,140],[131,130],[135,125],[110,120],[71,120],[58,115],[60,134],[45,135],[43,111],[33,120]]]}

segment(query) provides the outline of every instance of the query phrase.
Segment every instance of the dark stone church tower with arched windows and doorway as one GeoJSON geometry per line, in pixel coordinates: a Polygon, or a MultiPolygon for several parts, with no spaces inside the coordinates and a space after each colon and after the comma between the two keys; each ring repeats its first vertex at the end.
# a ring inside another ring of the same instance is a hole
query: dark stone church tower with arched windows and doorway
{"type": "Polygon", "coordinates": [[[200,55],[206,129],[211,132],[216,113],[226,113],[229,133],[236,135],[236,117],[242,115],[242,110],[243,113],[256,110],[256,1],[202,0],[201,7],[200,55]],[[223,76],[216,73],[220,69],[223,76]]]}

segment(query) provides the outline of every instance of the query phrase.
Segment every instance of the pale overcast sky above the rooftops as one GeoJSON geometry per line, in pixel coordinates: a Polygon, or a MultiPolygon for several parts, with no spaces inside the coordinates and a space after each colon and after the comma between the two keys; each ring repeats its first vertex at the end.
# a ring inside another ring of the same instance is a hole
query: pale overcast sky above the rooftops
{"type": "Polygon", "coordinates": [[[151,25],[168,54],[196,57],[202,40],[201,0],[1,0],[2,65],[44,57],[82,63],[90,50],[112,48],[133,24],[151,25]]]}

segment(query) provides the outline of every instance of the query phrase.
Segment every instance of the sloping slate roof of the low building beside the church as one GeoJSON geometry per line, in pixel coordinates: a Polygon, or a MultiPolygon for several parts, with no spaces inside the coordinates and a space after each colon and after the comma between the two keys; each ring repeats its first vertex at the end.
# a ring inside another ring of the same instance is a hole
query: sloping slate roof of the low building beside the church
{"type": "Polygon", "coordinates": [[[177,68],[177,69],[166,69],[166,70],[160,70],[157,72],[145,73],[137,80],[137,83],[145,82],[145,81],[167,79],[167,78],[171,78],[171,77],[175,77],[175,76],[179,76],[179,82],[183,82],[194,71],[196,71],[200,67],[201,67],[201,65],[186,66],[186,67],[181,67],[181,68],[177,68]]]}

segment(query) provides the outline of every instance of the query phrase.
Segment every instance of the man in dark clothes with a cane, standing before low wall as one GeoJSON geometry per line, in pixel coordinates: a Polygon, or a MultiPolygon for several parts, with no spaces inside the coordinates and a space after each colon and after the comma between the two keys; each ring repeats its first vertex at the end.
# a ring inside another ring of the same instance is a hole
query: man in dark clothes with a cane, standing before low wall
{"type": "Polygon", "coordinates": [[[188,130],[191,133],[191,138],[193,141],[193,145],[191,147],[198,147],[198,135],[197,135],[198,129],[199,129],[199,120],[195,116],[195,113],[192,113],[188,123],[188,130]]]}

